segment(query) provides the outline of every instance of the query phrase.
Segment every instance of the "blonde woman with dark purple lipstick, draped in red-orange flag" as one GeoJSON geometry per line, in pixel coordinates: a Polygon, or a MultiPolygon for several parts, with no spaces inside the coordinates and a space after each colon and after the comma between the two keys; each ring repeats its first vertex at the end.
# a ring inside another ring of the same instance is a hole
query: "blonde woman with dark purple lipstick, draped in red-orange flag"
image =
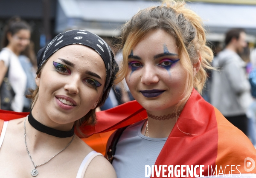
{"type": "Polygon", "coordinates": [[[99,112],[96,126],[85,127],[88,134],[118,129],[107,146],[117,177],[156,177],[152,165],[159,177],[170,176],[171,165],[174,177],[197,177],[199,165],[204,176],[255,177],[250,140],[199,94],[213,58],[200,17],[184,2],[166,0],[135,14],[121,40],[117,82],[125,78],[137,101],[99,112]]]}

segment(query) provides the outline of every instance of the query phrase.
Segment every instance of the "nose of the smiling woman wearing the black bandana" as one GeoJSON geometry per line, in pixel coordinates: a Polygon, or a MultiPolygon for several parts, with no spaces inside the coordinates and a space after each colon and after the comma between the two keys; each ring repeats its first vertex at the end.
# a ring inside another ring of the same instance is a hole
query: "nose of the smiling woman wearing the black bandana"
{"type": "Polygon", "coordinates": [[[79,83],[81,82],[79,76],[73,76],[66,80],[66,84],[64,86],[64,90],[70,94],[78,94],[79,93],[79,83]]]}

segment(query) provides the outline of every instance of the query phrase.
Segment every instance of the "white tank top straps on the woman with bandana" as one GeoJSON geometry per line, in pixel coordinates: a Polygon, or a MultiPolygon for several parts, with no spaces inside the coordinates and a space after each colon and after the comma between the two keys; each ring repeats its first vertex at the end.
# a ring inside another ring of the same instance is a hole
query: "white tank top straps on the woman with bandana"
{"type": "MultiPolygon", "coordinates": [[[[3,138],[6,133],[8,121],[5,121],[3,123],[3,129],[0,135],[0,148],[3,144],[3,138]]],[[[79,170],[77,172],[76,178],[84,178],[85,171],[87,170],[87,167],[89,166],[90,162],[98,155],[102,155],[101,153],[97,153],[96,151],[91,151],[88,155],[85,156],[84,160],[82,161],[79,170]]],[[[103,155],[102,155],[103,156],[103,155]]]]}

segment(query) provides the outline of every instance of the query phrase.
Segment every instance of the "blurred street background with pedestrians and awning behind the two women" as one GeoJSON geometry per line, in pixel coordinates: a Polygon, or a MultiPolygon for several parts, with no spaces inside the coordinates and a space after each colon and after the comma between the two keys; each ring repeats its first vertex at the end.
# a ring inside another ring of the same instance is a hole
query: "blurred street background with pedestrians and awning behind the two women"
{"type": "MultiPolygon", "coordinates": [[[[36,87],[36,54],[56,34],[70,29],[93,32],[108,42],[120,63],[122,51],[115,51],[114,47],[121,26],[140,9],[160,3],[154,0],[1,0],[0,65],[9,67],[0,71],[5,76],[0,85],[9,78],[15,92],[9,110],[30,111],[31,101],[25,95],[29,88],[36,87]],[[12,62],[8,62],[10,58],[12,62]]],[[[188,6],[204,20],[208,45],[215,54],[212,65],[218,69],[208,72],[202,96],[256,145],[256,0],[190,0],[188,6]]],[[[100,109],[107,110],[133,99],[123,81],[111,90],[100,109]]],[[[1,106],[3,102],[8,103],[10,99],[1,95],[1,106]]]]}

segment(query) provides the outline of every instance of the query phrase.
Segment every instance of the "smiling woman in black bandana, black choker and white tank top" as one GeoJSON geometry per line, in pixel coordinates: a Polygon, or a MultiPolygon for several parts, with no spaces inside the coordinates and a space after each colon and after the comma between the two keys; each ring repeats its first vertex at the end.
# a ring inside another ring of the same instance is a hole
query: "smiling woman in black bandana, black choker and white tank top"
{"type": "Polygon", "coordinates": [[[32,112],[0,112],[0,177],[115,178],[111,164],[79,138],[81,125],[95,124],[115,79],[111,48],[95,34],[71,30],[37,60],[32,112]]]}

